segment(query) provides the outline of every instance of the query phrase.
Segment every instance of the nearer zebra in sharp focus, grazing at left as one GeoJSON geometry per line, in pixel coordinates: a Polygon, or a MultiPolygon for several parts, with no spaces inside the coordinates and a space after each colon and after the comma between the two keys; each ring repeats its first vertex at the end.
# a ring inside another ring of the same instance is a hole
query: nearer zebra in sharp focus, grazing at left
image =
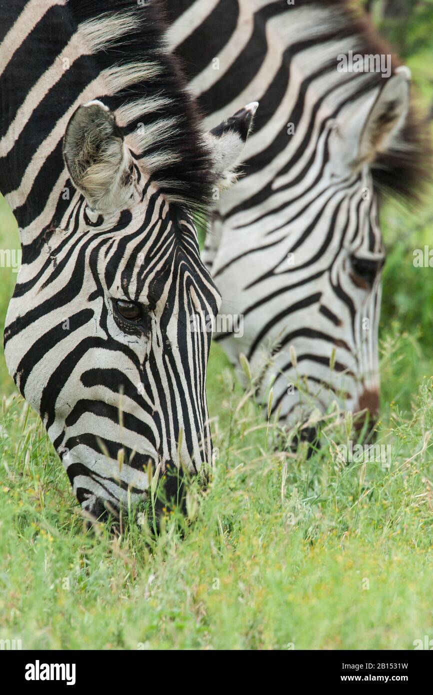
{"type": "Polygon", "coordinates": [[[211,462],[211,336],[192,325],[220,295],[192,214],[233,179],[256,108],[202,133],[160,6],[0,2],[0,190],[22,243],[6,362],[96,517],[152,470],[211,462]]]}

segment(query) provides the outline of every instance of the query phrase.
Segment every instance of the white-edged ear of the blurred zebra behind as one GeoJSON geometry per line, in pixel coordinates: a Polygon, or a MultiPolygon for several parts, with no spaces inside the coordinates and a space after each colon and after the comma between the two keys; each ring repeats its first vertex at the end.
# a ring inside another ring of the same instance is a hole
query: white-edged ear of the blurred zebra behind
{"type": "Polygon", "coordinates": [[[405,124],[409,111],[410,71],[400,67],[386,80],[378,95],[352,105],[334,123],[329,154],[342,173],[370,163],[389,149],[405,124]]]}

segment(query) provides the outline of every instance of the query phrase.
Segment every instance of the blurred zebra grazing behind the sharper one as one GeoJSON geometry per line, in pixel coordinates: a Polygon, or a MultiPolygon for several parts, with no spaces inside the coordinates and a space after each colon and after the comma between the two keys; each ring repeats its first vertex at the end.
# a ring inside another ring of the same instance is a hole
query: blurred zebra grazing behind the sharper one
{"type": "Polygon", "coordinates": [[[207,126],[261,101],[246,175],[222,195],[206,238],[221,311],[243,316],[242,336],[217,339],[233,363],[250,359],[263,401],[273,382],[283,422],[333,400],[371,422],[379,195],[414,196],[429,172],[409,70],[343,0],[179,0],[169,19],[207,126]]]}

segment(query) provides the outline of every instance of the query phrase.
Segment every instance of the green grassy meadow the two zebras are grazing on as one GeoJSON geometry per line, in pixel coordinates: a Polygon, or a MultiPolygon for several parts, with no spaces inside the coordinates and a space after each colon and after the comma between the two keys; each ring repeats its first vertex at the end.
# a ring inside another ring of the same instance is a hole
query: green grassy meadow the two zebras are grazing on
{"type": "MultiPolygon", "coordinates": [[[[408,60],[432,100],[431,49],[408,60]],[[429,52],[430,51],[430,52],[429,52]],[[430,60],[430,63],[429,63],[430,60]]],[[[47,434],[0,357],[0,639],[26,649],[413,649],[433,639],[433,189],[387,202],[377,442],[391,459],[341,461],[350,415],[334,411],[307,459],[213,345],[208,398],[219,450],[209,488],[157,537],[85,530],[47,434]]],[[[18,248],[0,204],[0,248],[18,248]]],[[[16,274],[1,268],[3,331],[16,274]]]]}

